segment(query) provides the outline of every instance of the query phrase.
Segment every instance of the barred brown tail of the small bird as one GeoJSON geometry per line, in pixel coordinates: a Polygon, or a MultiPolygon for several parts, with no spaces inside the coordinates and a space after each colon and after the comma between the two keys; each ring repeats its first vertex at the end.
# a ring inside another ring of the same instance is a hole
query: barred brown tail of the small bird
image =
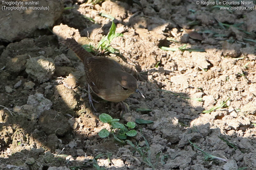
{"type": "Polygon", "coordinates": [[[67,38],[66,40],[60,40],[61,43],[65,44],[69,49],[73,50],[77,57],[84,62],[89,57],[93,57],[93,55],[87,52],[81,45],[79,45],[75,39],[67,38]]]}

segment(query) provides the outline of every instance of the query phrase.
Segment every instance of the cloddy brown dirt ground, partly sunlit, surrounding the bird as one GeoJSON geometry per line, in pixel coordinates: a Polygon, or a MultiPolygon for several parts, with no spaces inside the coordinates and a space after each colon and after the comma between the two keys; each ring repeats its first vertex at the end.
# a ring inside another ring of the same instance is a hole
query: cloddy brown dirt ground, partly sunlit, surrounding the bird
{"type": "Polygon", "coordinates": [[[49,12],[0,12],[0,169],[256,169],[256,10],[180,0],[39,2],[49,12]],[[153,121],[128,138],[141,148],[148,142],[144,156],[99,137],[110,128],[99,115],[120,118],[120,108],[93,95],[100,103],[92,110],[83,64],[56,36],[96,47],[111,26],[101,13],[123,33],[111,43],[120,55],[106,57],[132,73],[146,96],[126,99],[130,111],[120,121],[153,121]],[[185,44],[194,50],[180,50],[185,44]],[[189,140],[222,160],[205,160],[189,140]]]}

